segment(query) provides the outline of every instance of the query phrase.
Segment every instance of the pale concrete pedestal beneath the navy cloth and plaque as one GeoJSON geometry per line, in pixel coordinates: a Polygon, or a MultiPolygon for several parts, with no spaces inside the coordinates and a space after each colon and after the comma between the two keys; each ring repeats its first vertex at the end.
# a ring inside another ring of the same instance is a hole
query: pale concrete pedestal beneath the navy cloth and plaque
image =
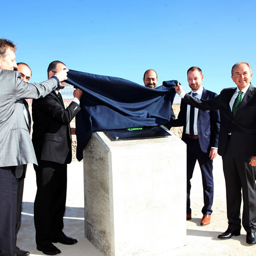
{"type": "Polygon", "coordinates": [[[85,235],[105,255],[170,255],[185,245],[186,145],[176,136],[111,141],[83,152],[85,235]]]}

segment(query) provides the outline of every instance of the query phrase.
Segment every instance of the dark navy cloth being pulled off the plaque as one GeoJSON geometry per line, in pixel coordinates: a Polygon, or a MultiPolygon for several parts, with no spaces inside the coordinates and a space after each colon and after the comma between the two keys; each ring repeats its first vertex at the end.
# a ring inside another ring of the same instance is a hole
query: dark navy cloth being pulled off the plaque
{"type": "Polygon", "coordinates": [[[83,91],[76,115],[78,161],[93,132],[156,126],[170,119],[178,81],[165,81],[156,89],[118,77],[70,70],[68,83],[83,91]]]}

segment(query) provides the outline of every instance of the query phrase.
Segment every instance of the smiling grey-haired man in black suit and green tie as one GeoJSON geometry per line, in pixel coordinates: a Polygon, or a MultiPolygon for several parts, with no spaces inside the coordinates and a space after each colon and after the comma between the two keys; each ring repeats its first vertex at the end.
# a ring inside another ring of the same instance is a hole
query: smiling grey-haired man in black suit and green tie
{"type": "Polygon", "coordinates": [[[222,156],[226,182],[228,229],[218,238],[239,236],[243,191],[243,220],[246,242],[256,244],[256,89],[250,83],[249,63],[241,61],[231,70],[237,88],[223,89],[214,99],[201,101],[182,91],[184,102],[203,110],[219,110],[221,118],[218,154],[222,156]]]}

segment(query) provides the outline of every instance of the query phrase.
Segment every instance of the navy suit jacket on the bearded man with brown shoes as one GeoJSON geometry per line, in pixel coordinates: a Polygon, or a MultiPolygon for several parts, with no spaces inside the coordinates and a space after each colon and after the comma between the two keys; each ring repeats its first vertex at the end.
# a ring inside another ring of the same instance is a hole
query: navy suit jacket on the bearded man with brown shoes
{"type": "MultiPolygon", "coordinates": [[[[216,93],[203,89],[202,100],[208,100],[211,98],[215,98],[217,96],[216,93]]],[[[183,126],[182,140],[185,138],[185,130],[186,130],[186,116],[187,116],[187,104],[185,100],[181,100],[180,104],[180,113],[178,118],[175,120],[170,120],[167,123],[168,127],[176,127],[183,126]]],[[[197,131],[198,131],[198,139],[201,150],[207,153],[211,147],[218,147],[219,141],[219,132],[220,132],[220,114],[218,110],[212,111],[198,111],[197,118],[197,131]]]]}

